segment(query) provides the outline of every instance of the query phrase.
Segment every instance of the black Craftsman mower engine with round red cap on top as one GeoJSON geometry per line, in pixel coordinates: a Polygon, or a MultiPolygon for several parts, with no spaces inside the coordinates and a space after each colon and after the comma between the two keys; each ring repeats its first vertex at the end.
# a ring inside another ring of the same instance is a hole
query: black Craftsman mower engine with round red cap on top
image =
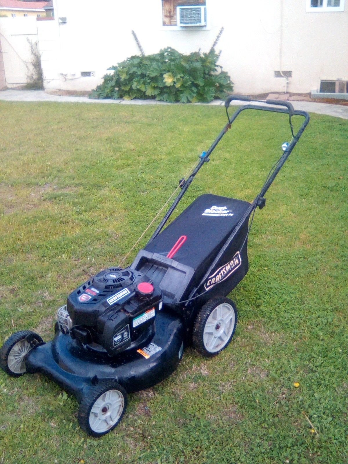
{"type": "Polygon", "coordinates": [[[71,292],[58,309],[58,328],[87,348],[115,356],[146,338],[162,299],[145,274],[109,268],[71,292]]]}

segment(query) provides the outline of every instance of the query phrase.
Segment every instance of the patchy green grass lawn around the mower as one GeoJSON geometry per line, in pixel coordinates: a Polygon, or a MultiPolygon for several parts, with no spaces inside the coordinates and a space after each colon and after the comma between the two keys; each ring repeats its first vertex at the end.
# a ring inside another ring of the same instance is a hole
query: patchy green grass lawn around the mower
{"type": "MultiPolygon", "coordinates": [[[[209,106],[0,102],[0,343],[51,338],[66,295],[119,263],[224,123],[209,106]]],[[[245,112],[181,209],[252,200],[288,139],[284,115],[245,112]]],[[[223,353],[187,349],[101,439],[52,381],[1,373],[0,462],[348,462],[347,142],[347,121],[311,116],[255,215],[223,353]]]]}

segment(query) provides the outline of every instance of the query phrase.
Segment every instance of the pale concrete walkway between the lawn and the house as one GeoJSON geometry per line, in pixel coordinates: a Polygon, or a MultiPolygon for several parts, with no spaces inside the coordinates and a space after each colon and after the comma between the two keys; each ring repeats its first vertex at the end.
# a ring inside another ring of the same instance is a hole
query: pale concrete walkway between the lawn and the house
{"type": "MultiPolygon", "coordinates": [[[[156,100],[92,100],[88,97],[61,97],[59,95],[51,95],[46,93],[45,90],[2,90],[0,91],[0,100],[7,102],[69,102],[69,103],[113,103],[121,105],[166,105],[173,103],[158,102],[156,100]]],[[[311,113],[318,113],[322,115],[336,116],[343,119],[348,119],[348,105],[330,105],[329,103],[315,103],[315,102],[299,102],[292,100],[295,110],[304,110],[311,113]]],[[[174,103],[184,104],[184,103],[174,103]]],[[[223,105],[222,100],[213,100],[210,103],[194,103],[196,105],[223,105]]],[[[233,100],[233,105],[245,104],[238,100],[233,100]]],[[[267,105],[268,106],[268,105],[267,105]]]]}

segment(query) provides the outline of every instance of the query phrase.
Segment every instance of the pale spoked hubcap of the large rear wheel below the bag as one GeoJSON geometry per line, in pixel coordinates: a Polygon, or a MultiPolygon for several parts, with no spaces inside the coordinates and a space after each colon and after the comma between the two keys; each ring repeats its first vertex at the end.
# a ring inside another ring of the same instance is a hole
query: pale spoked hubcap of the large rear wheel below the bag
{"type": "Polygon", "coordinates": [[[216,353],[229,341],[236,323],[236,315],[228,303],[219,304],[210,313],[203,331],[204,348],[216,353]]]}

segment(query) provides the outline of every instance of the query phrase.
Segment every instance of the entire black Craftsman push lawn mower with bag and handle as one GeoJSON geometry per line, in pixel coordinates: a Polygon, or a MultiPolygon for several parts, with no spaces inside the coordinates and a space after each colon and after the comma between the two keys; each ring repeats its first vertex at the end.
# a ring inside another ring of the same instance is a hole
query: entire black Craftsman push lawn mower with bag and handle
{"type": "Polygon", "coordinates": [[[264,194],[309,122],[309,115],[294,111],[290,102],[250,102],[261,101],[235,95],[226,99],[228,122],[193,171],[179,181],[178,195],[129,267],[109,267],[71,292],[58,309],[52,341],[21,330],[1,348],[0,365],[7,374],[41,372],[72,393],[79,402],[78,424],[93,437],[120,422],[127,393],[153,387],[172,374],[185,347],[193,345],[213,357],[232,339],[237,309],[226,296],[248,271],[247,239],[255,210],[265,206],[264,194]],[[233,99],[249,103],[230,117],[233,99]],[[284,142],[258,196],[249,203],[206,193],[164,227],[194,176],[245,110],[289,115],[292,138],[284,142]],[[304,117],[296,134],[293,115],[304,117]]]}

